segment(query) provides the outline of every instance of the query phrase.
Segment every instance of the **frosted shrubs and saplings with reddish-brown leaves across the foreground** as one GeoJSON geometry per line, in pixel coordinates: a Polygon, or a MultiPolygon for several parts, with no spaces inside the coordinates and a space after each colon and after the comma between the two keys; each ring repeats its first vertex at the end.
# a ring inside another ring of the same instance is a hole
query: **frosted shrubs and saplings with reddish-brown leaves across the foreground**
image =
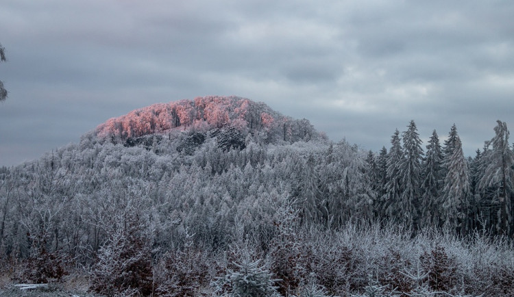
{"type": "MultiPolygon", "coordinates": [[[[105,296],[514,294],[513,243],[502,237],[458,238],[430,230],[412,237],[402,228],[367,222],[336,230],[282,224],[277,222],[276,233],[267,238],[241,224],[217,249],[186,233],[180,246],[164,253],[140,237],[119,236],[123,243],[101,250],[90,268],[43,253],[18,263],[4,261],[2,276],[105,296]]],[[[4,293],[13,292],[10,285],[4,293]]]]}

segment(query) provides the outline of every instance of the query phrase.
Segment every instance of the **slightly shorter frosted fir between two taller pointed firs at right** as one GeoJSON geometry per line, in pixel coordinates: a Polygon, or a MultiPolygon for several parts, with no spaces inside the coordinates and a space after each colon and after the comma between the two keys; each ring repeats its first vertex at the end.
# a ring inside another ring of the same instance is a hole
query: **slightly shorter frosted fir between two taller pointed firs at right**
{"type": "Polygon", "coordinates": [[[434,130],[426,146],[423,183],[421,183],[421,222],[424,226],[438,227],[440,214],[439,199],[443,185],[443,152],[439,136],[434,130]]]}

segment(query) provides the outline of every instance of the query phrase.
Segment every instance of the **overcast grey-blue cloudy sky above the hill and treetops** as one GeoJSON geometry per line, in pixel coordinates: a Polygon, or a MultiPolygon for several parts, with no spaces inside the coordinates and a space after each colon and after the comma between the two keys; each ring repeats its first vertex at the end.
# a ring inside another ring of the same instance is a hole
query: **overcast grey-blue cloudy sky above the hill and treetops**
{"type": "MultiPolygon", "coordinates": [[[[152,103],[236,95],[378,151],[514,125],[514,1],[0,3],[0,166],[152,103]]],[[[511,139],[511,142],[514,140],[511,139]]]]}

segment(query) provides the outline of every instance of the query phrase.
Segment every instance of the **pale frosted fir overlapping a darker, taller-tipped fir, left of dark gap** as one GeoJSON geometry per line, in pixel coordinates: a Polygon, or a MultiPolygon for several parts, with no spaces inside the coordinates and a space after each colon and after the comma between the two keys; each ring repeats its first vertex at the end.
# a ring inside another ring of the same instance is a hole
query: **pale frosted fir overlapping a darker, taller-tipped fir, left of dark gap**
{"type": "Polygon", "coordinates": [[[443,218],[445,226],[465,235],[467,233],[467,209],[469,207],[469,176],[467,162],[462,150],[461,139],[454,138],[454,151],[447,157],[447,173],[443,188],[443,218]]]}

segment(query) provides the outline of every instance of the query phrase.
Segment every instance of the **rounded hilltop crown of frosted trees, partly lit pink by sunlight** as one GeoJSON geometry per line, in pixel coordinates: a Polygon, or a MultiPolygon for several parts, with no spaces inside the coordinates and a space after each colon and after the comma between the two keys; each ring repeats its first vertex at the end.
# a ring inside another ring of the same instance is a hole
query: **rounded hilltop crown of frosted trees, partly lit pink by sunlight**
{"type": "MultiPolygon", "coordinates": [[[[294,120],[273,111],[265,103],[236,96],[204,96],[150,105],[125,116],[110,118],[99,125],[95,133],[98,138],[114,143],[126,142],[132,146],[143,142],[146,146],[145,135],[169,134],[171,137],[172,131],[191,134],[212,131],[225,137],[225,146],[238,141],[232,137],[236,134],[236,138],[243,139],[252,134],[266,143],[293,143],[319,137],[306,119],[294,120]]],[[[242,148],[241,144],[238,147],[242,148]]]]}

